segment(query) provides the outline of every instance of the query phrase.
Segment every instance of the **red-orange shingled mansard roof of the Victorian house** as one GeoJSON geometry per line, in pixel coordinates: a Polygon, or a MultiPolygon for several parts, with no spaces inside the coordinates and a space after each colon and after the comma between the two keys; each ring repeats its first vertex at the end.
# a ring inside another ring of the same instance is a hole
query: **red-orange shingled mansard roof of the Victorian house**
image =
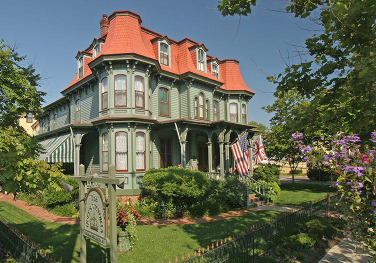
{"type": "MultiPolygon", "coordinates": [[[[101,59],[103,56],[119,55],[119,54],[135,54],[150,58],[158,63],[158,41],[156,39],[167,39],[170,44],[171,64],[166,66],[159,64],[161,70],[177,75],[194,74],[200,78],[215,81],[215,83],[222,83],[221,88],[224,90],[248,91],[250,90],[244,83],[239,69],[239,61],[234,59],[219,60],[220,79],[217,79],[211,74],[209,63],[207,63],[207,72],[197,70],[196,65],[196,48],[201,48],[203,51],[208,49],[202,43],[197,43],[189,38],[175,41],[168,38],[166,35],[161,35],[151,31],[140,24],[142,22],[140,16],[134,12],[124,10],[115,11],[108,16],[109,27],[108,33],[101,36],[105,39],[99,54],[94,58],[85,57],[84,59],[84,76],[77,79],[77,74],[70,82],[67,88],[74,85],[78,81],[86,78],[92,74],[88,62],[96,59],[101,59]]],[[[85,54],[92,53],[90,47],[86,48],[85,54]]],[[[213,58],[206,55],[207,60],[213,58]]]]}

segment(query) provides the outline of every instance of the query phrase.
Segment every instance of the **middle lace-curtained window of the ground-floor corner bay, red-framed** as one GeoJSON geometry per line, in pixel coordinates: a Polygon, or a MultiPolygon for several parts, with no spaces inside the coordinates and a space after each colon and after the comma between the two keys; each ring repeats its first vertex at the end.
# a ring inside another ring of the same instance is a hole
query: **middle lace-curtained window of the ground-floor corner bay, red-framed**
{"type": "Polygon", "coordinates": [[[115,133],[115,162],[116,171],[128,170],[128,133],[119,131],[115,133]]]}

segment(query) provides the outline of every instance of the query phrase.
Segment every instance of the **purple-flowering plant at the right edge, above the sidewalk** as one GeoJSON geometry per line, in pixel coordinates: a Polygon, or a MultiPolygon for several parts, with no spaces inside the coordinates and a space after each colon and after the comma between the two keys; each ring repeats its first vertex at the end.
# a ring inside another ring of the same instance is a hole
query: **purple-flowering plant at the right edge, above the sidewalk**
{"type": "MultiPolygon", "coordinates": [[[[292,138],[307,161],[321,162],[325,170],[338,175],[332,186],[342,193],[339,205],[348,228],[376,260],[376,146],[360,147],[357,134],[339,135],[323,159],[318,159],[303,144],[301,133],[292,134],[292,138]]],[[[376,144],[376,132],[371,133],[371,141],[376,144]]]]}

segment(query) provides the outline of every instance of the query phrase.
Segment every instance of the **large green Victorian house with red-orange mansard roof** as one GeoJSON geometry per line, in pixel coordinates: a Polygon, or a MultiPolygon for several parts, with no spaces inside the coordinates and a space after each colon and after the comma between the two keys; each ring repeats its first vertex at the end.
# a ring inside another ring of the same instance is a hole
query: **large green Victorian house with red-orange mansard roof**
{"type": "Polygon", "coordinates": [[[239,61],[219,60],[202,43],[142,27],[136,13],[103,14],[100,37],[76,58],[77,72],[62,97],[37,117],[46,150],[40,158],[75,163],[75,174],[79,163],[86,174],[99,175],[113,164],[125,178],[118,195],[140,194],[150,167],[233,167],[224,149],[245,129],[253,135],[247,112],[254,92],[239,61]]]}

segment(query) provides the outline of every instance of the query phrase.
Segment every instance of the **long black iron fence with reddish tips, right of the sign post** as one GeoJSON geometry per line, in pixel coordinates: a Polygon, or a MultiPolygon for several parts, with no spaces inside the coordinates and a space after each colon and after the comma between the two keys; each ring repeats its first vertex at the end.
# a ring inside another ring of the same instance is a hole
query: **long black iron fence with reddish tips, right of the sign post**
{"type": "Polygon", "coordinates": [[[339,193],[328,193],[310,204],[287,211],[285,215],[270,220],[269,223],[256,225],[247,229],[240,236],[233,236],[222,244],[212,244],[198,250],[195,257],[183,261],[183,263],[244,263],[254,260],[259,255],[280,245],[287,237],[296,234],[300,229],[298,222],[310,217],[324,209],[324,213],[330,213],[329,206],[339,198],[339,193]],[[211,249],[210,249],[211,248],[211,249]]]}

